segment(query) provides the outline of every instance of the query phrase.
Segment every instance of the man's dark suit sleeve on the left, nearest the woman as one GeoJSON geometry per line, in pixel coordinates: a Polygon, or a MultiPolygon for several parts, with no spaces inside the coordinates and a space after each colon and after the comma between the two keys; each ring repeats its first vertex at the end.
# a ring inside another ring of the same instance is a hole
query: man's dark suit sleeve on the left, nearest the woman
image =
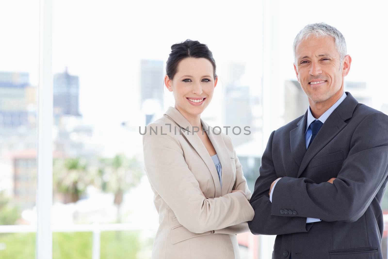
{"type": "MultiPolygon", "coordinates": [[[[278,178],[272,160],[272,139],[274,133],[272,132],[270,135],[267,148],[265,148],[263,153],[260,176],[256,180],[255,191],[253,191],[250,200],[255,210],[255,216],[252,221],[248,221],[248,226],[255,235],[282,235],[307,232],[312,224],[306,224],[306,217],[280,217],[271,214],[273,205],[269,200],[268,193],[272,182],[278,178]]],[[[279,186],[276,186],[276,188],[279,188],[279,186]]]]}

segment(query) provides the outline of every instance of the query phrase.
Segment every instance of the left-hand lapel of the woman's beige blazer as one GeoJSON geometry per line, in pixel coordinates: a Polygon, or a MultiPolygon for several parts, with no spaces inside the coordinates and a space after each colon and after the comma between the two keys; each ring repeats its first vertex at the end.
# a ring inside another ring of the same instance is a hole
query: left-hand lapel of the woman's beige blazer
{"type": "MultiPolygon", "coordinates": [[[[218,179],[217,169],[211,159],[208,150],[199,139],[197,133],[192,132],[192,126],[189,121],[175,108],[169,107],[165,115],[169,116],[179,127],[182,128],[181,135],[187,139],[191,146],[197,151],[198,155],[201,156],[203,162],[206,164],[210,171],[211,178],[215,187],[215,197],[221,196],[221,184],[218,179]]],[[[202,121],[202,120],[201,120],[202,121]]],[[[179,134],[179,132],[177,132],[179,134]]],[[[217,149],[216,149],[217,150],[217,149]]],[[[218,156],[220,158],[220,156],[218,156]]],[[[220,158],[220,162],[221,158],[220,158]]]]}

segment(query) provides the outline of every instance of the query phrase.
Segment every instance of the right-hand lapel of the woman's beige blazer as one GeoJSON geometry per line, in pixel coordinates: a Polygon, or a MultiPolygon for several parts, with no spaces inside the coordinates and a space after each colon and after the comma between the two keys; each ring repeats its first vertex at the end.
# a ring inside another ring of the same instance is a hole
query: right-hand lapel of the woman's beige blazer
{"type": "MultiPolygon", "coordinates": [[[[221,172],[221,179],[222,179],[222,189],[221,189],[221,195],[223,196],[229,192],[230,183],[232,182],[232,162],[230,160],[229,153],[227,151],[227,147],[225,143],[223,142],[221,134],[214,134],[213,130],[205,123],[202,119],[202,126],[204,129],[210,129],[208,130],[208,136],[211,141],[211,144],[213,144],[214,149],[217,152],[218,159],[221,162],[222,172],[221,172]]],[[[221,132],[220,132],[221,133],[221,132]]],[[[214,163],[213,163],[213,167],[214,163]]],[[[217,170],[216,170],[217,172],[217,170]]],[[[218,179],[218,178],[217,178],[218,179]]],[[[218,180],[219,181],[219,180],[218,180]]]]}

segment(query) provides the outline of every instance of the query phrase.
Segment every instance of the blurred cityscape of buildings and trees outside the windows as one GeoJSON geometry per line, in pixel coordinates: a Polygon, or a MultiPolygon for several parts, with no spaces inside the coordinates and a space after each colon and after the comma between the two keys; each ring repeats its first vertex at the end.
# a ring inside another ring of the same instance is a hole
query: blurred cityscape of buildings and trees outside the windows
{"type": "MultiPolygon", "coordinates": [[[[163,115],[168,106],[163,94],[164,64],[161,60],[140,61],[137,116],[143,127],[163,115]]],[[[229,76],[223,81],[219,97],[222,105],[210,108],[203,119],[210,125],[230,127],[228,134],[249,189],[253,191],[261,165],[262,141],[266,142],[262,128],[263,96],[252,94],[252,85],[244,83],[244,64],[231,63],[223,73],[229,76]],[[241,129],[249,126],[251,134],[233,134],[231,129],[236,126],[241,129]]],[[[54,75],[53,86],[53,224],[138,222],[156,231],[158,216],[143,172],[141,149],[129,146],[127,152],[106,156],[104,137],[80,113],[80,103],[87,100],[80,98],[79,76],[71,75],[66,68],[54,75]]],[[[366,82],[346,82],[345,90],[360,103],[372,105],[366,82]]],[[[36,221],[36,98],[37,87],[29,82],[28,73],[0,72],[0,225],[35,224],[36,221]]],[[[284,107],[283,123],[303,115],[308,108],[307,98],[296,80],[284,82],[284,107]]],[[[388,112],[388,106],[383,105],[381,110],[388,112]]],[[[120,124],[129,142],[131,138],[140,138],[137,121],[123,118],[120,124]]],[[[382,206],[388,212],[388,199],[383,200],[382,206]]],[[[134,253],[148,258],[153,235],[152,231],[142,233],[140,236],[147,240],[146,245],[139,244],[134,253]]],[[[247,254],[248,247],[253,246],[253,258],[258,258],[258,239],[252,243],[249,235],[238,236],[241,254],[247,254]]],[[[386,232],[384,240],[383,246],[386,232]]]]}

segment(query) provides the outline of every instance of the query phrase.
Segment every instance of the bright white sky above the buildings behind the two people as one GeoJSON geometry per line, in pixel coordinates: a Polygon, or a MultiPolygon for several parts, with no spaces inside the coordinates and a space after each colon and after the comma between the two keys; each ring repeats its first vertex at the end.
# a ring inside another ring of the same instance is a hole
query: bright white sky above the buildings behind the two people
{"type": "MultiPolygon", "coordinates": [[[[208,44],[217,62],[221,84],[208,114],[222,107],[222,82],[228,80],[230,63],[245,63],[244,84],[261,91],[262,66],[269,65],[262,63],[262,2],[134,2],[54,0],[53,71],[67,66],[69,73],[80,76],[80,111],[88,123],[104,132],[129,118],[133,125],[142,125],[143,118],[132,117],[140,107],[140,60],[166,61],[170,46],[187,38],[208,44]]],[[[272,22],[279,28],[281,82],[295,78],[292,42],[296,33],[308,23],[324,21],[346,38],[353,58],[346,80],[367,82],[375,108],[381,107],[388,94],[381,79],[387,67],[385,1],[281,0],[276,10],[279,19],[272,22]]],[[[38,0],[0,4],[0,71],[27,71],[34,85],[38,19],[38,0]]],[[[170,93],[165,95],[166,106],[173,105],[170,93]]]]}

